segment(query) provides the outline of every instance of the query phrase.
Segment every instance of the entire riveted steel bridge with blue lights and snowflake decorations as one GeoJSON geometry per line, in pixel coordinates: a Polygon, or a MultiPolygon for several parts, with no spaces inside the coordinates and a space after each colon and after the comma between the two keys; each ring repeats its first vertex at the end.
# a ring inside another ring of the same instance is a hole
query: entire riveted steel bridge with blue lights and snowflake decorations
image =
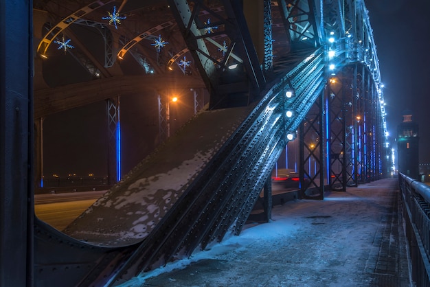
{"type": "Polygon", "coordinates": [[[299,165],[315,166],[312,173],[299,169],[301,198],[322,200],[325,190],[387,175],[382,82],[363,0],[34,1],[32,12],[6,3],[1,14],[10,31],[34,35],[34,47],[11,40],[3,51],[16,55],[12,47],[19,47],[21,59],[5,57],[3,66],[16,74],[10,83],[17,93],[29,95],[6,100],[14,113],[1,119],[10,127],[2,135],[3,163],[12,163],[10,173],[2,163],[8,205],[1,216],[22,218],[2,219],[2,250],[14,242],[18,251],[2,252],[1,267],[10,256],[21,270],[3,278],[10,284],[115,286],[240,233],[262,190],[269,220],[271,171],[296,138],[299,165]],[[114,5],[126,16],[117,27],[101,20],[114,5]],[[80,26],[100,34],[102,52],[89,48],[80,26]],[[65,36],[76,45],[67,53],[89,78],[49,87],[43,61],[65,36]],[[131,62],[140,76],[126,72],[131,62]],[[26,69],[33,63],[34,71],[26,69]],[[105,100],[114,162],[120,97],[146,89],[165,106],[169,82],[201,89],[209,104],[117,183],[112,164],[115,185],[63,232],[38,220],[32,195],[43,117],[105,100]]]}

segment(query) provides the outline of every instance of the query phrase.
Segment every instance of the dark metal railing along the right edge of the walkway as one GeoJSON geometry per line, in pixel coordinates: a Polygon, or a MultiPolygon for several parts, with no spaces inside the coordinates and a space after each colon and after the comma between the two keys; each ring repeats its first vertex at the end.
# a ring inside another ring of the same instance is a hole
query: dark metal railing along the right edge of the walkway
{"type": "Polygon", "coordinates": [[[398,181],[411,256],[412,280],[416,286],[430,286],[430,187],[400,173],[398,181]]]}

